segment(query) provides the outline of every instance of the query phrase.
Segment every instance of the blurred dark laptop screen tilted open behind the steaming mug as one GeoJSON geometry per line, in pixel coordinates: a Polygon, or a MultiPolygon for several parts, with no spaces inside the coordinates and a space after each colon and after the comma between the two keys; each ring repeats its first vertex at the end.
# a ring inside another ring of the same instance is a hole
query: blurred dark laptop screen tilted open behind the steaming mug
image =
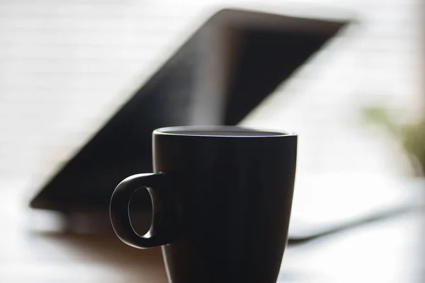
{"type": "MultiPolygon", "coordinates": [[[[104,215],[115,186],[152,171],[151,134],[174,125],[238,125],[289,79],[348,20],[283,16],[242,9],[212,14],[89,141],[52,172],[30,207],[104,215]]],[[[149,197],[137,207],[152,209],[149,197]]],[[[149,220],[149,219],[148,219],[149,220]]]]}

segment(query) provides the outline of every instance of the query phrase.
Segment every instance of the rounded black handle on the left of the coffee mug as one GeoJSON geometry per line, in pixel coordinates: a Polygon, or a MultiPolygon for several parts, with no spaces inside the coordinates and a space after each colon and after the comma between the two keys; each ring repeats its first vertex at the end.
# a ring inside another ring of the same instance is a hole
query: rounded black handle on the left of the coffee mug
{"type": "Polygon", "coordinates": [[[165,173],[132,175],[115,187],[109,214],[113,230],[121,241],[135,248],[153,248],[173,241],[176,221],[173,219],[173,196],[170,188],[169,176],[165,173]],[[142,187],[148,190],[152,200],[152,224],[143,236],[133,228],[129,211],[132,195],[142,187]]]}

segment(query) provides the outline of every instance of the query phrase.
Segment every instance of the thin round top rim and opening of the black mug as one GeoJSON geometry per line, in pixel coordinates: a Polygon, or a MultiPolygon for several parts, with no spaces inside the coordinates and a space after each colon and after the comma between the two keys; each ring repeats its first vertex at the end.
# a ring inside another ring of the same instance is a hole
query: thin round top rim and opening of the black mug
{"type": "Polygon", "coordinates": [[[175,137],[220,137],[220,138],[276,138],[297,136],[293,132],[279,132],[273,130],[259,129],[256,127],[242,126],[220,126],[220,125],[190,125],[161,127],[154,129],[153,134],[175,136],[175,137]],[[188,132],[198,132],[190,134],[188,132]],[[200,133],[199,133],[200,132],[200,133]],[[202,134],[205,132],[205,134],[202,134]],[[217,134],[206,134],[206,132],[217,132],[217,134]],[[220,134],[221,132],[221,134],[220,134]],[[246,132],[247,134],[222,134],[223,132],[246,132]],[[251,134],[249,134],[251,133],[251,134]],[[254,134],[255,133],[255,134],[254,134]]]}

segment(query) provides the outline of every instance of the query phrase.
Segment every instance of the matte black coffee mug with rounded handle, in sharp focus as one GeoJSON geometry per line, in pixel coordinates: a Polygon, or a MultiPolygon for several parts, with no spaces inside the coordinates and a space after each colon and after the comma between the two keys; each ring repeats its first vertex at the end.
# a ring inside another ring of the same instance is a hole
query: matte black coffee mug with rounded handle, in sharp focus
{"type": "Polygon", "coordinates": [[[153,132],[154,173],[115,188],[111,222],[136,248],[162,246],[169,282],[275,283],[288,241],[297,136],[243,127],[168,127],[153,132]],[[129,202],[153,204],[144,236],[129,202]]]}

